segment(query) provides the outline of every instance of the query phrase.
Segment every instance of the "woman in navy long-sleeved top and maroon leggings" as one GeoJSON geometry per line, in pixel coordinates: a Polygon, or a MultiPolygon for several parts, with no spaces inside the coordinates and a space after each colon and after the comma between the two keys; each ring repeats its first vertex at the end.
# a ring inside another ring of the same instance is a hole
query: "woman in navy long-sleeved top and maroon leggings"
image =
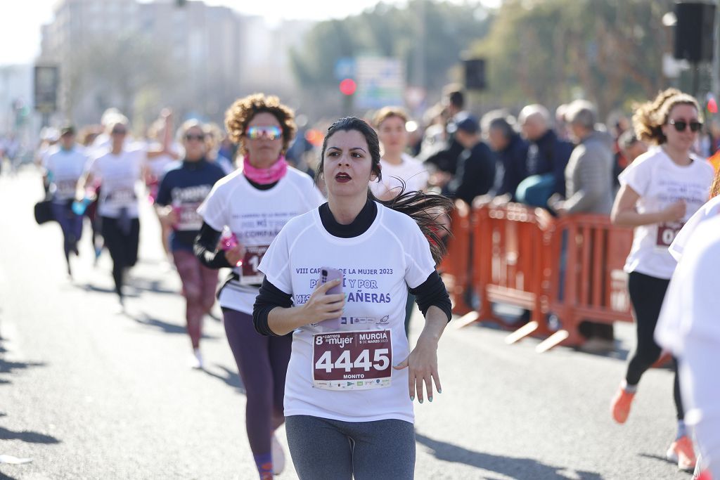
{"type": "Polygon", "coordinates": [[[207,160],[206,135],[200,122],[194,119],[184,122],[178,137],[185,157],[163,175],[155,206],[163,226],[171,232],[170,251],[182,281],[187,332],[193,350],[190,365],[202,368],[202,319],[215,303],[217,270],[202,265],[192,247],[202,225],[197,207],[225,172],[207,160]]]}

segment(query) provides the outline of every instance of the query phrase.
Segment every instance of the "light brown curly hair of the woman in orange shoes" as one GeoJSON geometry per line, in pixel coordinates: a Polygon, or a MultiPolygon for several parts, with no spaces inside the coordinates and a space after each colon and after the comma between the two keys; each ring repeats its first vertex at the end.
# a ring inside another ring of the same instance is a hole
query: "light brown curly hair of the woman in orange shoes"
{"type": "Polygon", "coordinates": [[[700,106],[695,97],[683,94],[678,89],[666,89],[661,91],[651,101],[635,105],[635,112],[632,122],[635,127],[635,135],[645,142],[662,145],[667,142],[667,137],[662,133],[662,125],[667,123],[672,107],[675,105],[690,105],[695,107],[698,114],[701,114],[700,106]]]}

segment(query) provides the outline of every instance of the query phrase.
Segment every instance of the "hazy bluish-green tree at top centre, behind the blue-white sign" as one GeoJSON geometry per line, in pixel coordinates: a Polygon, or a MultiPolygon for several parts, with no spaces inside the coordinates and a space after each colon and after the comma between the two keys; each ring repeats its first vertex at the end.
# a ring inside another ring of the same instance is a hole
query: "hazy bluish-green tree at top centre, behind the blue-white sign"
{"type": "Polygon", "coordinates": [[[491,19],[477,4],[411,0],[398,7],[379,3],[362,14],[315,25],[305,42],[292,49],[292,68],[303,89],[336,89],[337,60],[383,55],[405,60],[408,84],[413,84],[415,49],[422,49],[425,84],[420,86],[439,90],[449,81],[448,71],[461,53],[487,34],[491,19]]]}

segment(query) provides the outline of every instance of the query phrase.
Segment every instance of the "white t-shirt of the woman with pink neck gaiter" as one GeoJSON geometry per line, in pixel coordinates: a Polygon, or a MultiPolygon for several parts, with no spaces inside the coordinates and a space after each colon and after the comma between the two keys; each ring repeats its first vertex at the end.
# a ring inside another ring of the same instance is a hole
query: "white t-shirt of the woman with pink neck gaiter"
{"type": "Polygon", "coordinates": [[[258,264],[282,227],[293,217],[325,201],[312,178],[294,168],[269,190],[258,190],[238,170],[212,187],[197,212],[218,232],[227,226],[246,248],[243,265],[233,268],[239,281],[230,281],[220,291],[220,306],[253,313],[258,285],[263,275],[258,264]]]}

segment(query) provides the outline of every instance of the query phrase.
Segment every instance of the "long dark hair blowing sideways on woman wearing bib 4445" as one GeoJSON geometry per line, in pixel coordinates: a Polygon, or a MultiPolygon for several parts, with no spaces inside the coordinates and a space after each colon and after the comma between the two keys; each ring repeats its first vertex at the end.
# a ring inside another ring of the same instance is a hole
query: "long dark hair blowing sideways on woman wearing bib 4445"
{"type": "MultiPolygon", "coordinates": [[[[323,176],[323,167],[325,166],[325,149],[328,148],[328,138],[332,137],[336,132],[348,131],[360,132],[367,142],[370,150],[370,158],[372,160],[372,173],[377,175],[378,180],[382,178],[380,171],[380,141],[377,138],[375,130],[364,120],[357,117],[344,117],[330,125],[328,133],[323,140],[323,150],[320,152],[320,163],[315,174],[315,183],[323,176]]],[[[447,249],[441,240],[439,232],[444,231],[450,233],[449,230],[439,222],[442,216],[448,214],[454,208],[453,201],[446,196],[438,194],[424,194],[420,191],[405,191],[405,182],[400,179],[402,188],[400,194],[392,200],[379,200],[372,191],[367,189],[367,198],[411,217],[420,227],[425,237],[430,243],[430,252],[433,260],[440,263],[447,249]]]]}

